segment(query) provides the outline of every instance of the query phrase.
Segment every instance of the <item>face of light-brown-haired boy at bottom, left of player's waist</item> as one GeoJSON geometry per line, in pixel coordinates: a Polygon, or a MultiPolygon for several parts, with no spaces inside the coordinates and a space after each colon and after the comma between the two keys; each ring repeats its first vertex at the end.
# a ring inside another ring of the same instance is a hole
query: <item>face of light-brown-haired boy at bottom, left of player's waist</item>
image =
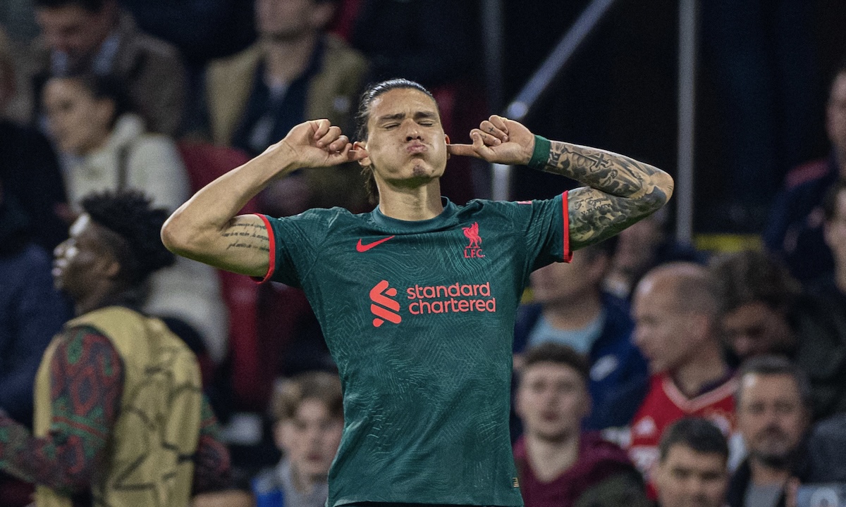
{"type": "Polygon", "coordinates": [[[332,417],[322,401],[306,399],[291,420],[277,426],[277,443],[299,477],[316,481],[329,472],[342,432],[343,421],[332,417]]]}

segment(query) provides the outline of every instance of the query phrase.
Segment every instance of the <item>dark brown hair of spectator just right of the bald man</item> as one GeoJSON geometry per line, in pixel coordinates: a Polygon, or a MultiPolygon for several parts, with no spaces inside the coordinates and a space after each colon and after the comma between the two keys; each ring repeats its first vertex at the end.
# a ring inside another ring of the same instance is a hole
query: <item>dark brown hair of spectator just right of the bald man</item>
{"type": "Polygon", "coordinates": [[[801,286],[775,257],[758,250],[722,254],[711,261],[722,312],[761,302],[773,309],[787,308],[801,286]]]}

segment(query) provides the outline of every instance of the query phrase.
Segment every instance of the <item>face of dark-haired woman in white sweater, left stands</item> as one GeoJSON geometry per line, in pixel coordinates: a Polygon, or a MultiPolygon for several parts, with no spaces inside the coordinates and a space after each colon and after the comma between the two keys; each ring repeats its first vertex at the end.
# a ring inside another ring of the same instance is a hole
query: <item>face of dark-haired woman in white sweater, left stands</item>
{"type": "Polygon", "coordinates": [[[105,142],[112,101],[97,100],[73,78],[54,78],[44,88],[47,125],[60,150],[85,155],[105,142]]]}

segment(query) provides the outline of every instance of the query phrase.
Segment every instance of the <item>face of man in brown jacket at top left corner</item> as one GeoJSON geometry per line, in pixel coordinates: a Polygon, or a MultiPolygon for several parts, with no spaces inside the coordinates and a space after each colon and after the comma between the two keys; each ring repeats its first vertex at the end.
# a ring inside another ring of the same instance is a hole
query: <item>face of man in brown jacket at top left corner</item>
{"type": "Polygon", "coordinates": [[[47,45],[67,53],[72,66],[89,60],[112,27],[110,9],[91,13],[78,5],[37,8],[36,20],[47,45]]]}

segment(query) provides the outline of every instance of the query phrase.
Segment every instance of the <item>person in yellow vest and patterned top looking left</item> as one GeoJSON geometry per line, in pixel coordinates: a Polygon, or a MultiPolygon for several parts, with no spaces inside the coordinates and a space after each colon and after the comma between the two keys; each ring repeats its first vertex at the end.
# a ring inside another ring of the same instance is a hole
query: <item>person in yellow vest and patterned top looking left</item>
{"type": "Polygon", "coordinates": [[[228,451],[196,357],[135,304],[140,283],[173,263],[158,238],[167,212],[136,192],[82,205],[53,271],[77,317],[41,361],[33,432],[0,416],[0,469],[35,482],[38,505],[185,507],[228,487],[228,451]]]}

